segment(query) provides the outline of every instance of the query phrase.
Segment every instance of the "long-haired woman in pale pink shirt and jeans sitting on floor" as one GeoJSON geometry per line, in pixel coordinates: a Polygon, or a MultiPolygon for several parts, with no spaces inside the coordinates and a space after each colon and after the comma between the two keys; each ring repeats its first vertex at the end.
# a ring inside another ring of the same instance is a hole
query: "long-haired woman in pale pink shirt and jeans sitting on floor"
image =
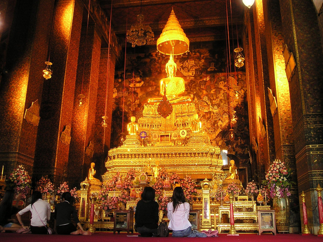
{"type": "Polygon", "coordinates": [[[207,237],[197,230],[192,231],[192,225],[188,221],[190,205],[186,202],[182,187],[175,187],[172,202],[167,204],[168,228],[172,229],[172,237],[207,237]]]}

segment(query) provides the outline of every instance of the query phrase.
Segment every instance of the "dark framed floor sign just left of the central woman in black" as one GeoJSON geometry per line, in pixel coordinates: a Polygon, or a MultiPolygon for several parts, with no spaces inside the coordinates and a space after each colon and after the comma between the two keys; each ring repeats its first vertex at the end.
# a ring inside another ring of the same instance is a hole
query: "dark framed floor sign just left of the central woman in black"
{"type": "Polygon", "coordinates": [[[118,231],[127,231],[128,234],[131,231],[133,233],[133,211],[131,210],[116,210],[114,212],[114,226],[113,233],[118,231]]]}

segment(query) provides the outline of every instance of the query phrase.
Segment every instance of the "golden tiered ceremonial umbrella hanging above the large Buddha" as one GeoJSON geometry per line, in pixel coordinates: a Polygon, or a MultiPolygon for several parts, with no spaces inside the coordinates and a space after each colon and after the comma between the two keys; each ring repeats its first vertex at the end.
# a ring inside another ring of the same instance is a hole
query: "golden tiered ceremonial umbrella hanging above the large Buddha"
{"type": "Polygon", "coordinates": [[[157,51],[165,55],[182,55],[189,51],[190,41],[186,37],[174,10],[157,39],[157,51]]]}

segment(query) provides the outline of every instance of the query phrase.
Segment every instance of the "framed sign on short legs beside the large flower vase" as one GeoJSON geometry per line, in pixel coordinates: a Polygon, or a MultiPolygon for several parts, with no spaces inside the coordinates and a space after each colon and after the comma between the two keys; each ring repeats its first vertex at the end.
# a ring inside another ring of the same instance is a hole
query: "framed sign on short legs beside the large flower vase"
{"type": "Polygon", "coordinates": [[[276,235],[275,210],[258,210],[258,235],[264,231],[276,235]]]}

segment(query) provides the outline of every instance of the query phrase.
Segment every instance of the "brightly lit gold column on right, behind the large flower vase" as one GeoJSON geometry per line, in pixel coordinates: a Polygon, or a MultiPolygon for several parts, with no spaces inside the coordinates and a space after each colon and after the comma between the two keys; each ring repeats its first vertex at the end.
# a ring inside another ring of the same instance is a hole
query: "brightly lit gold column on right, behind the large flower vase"
{"type": "MultiPolygon", "coordinates": [[[[291,169],[291,180],[295,186],[291,187],[290,204],[299,205],[295,147],[293,140],[293,121],[290,105],[290,92],[285,72],[284,38],[282,34],[282,23],[279,9],[279,0],[263,1],[265,16],[265,33],[267,41],[267,56],[269,81],[272,96],[276,98],[270,106],[273,118],[273,129],[275,136],[276,158],[284,161],[291,169]],[[275,108],[276,107],[276,108],[275,108]]],[[[269,95],[271,95],[269,93],[269,95]]],[[[300,213],[298,210],[291,210],[291,225],[300,229],[300,213]]],[[[296,228],[293,230],[295,231],[296,228]]],[[[299,231],[300,232],[300,231],[299,231]]]]}

